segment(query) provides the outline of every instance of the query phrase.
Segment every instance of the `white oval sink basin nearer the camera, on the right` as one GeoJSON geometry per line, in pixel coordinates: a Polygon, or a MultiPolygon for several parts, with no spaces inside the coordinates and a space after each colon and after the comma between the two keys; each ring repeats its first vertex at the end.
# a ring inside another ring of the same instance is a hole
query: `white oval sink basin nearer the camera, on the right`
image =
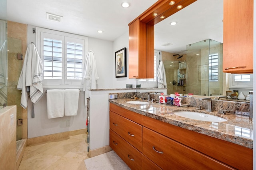
{"type": "Polygon", "coordinates": [[[218,117],[218,116],[214,116],[214,115],[206,114],[206,113],[199,113],[199,112],[180,111],[180,112],[174,112],[174,114],[176,114],[178,116],[182,116],[184,118],[207,121],[207,122],[225,122],[225,121],[227,121],[226,119],[218,117]]]}

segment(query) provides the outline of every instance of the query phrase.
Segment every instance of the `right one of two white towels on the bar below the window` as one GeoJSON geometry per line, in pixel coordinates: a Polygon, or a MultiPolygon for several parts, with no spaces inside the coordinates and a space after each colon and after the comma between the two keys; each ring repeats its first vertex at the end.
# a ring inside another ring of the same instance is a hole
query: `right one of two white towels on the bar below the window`
{"type": "Polygon", "coordinates": [[[78,110],[79,89],[65,90],[65,116],[76,116],[78,110]]]}

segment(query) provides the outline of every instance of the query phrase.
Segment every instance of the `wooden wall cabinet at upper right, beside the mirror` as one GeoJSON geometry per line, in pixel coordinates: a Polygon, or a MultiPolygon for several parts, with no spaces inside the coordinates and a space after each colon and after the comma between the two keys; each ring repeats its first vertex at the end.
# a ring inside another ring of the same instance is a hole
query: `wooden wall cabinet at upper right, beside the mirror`
{"type": "Polygon", "coordinates": [[[224,0],[223,72],[253,73],[253,0],[224,0]]]}

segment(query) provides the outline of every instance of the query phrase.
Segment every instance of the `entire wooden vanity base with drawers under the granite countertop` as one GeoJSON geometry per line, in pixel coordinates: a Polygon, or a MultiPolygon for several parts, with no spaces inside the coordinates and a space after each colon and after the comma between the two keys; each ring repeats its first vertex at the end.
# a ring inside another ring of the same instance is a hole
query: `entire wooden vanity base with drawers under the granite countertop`
{"type": "Polygon", "coordinates": [[[110,103],[110,147],[132,169],[136,168],[133,168],[134,165],[129,158],[136,158],[139,162],[136,167],[143,170],[161,168],[249,170],[253,165],[250,148],[149,118],[112,103],[110,103]],[[118,130],[115,126],[116,122],[118,126],[125,124],[128,127],[118,130]],[[134,130],[134,128],[137,130],[132,133],[136,136],[142,134],[142,138],[127,136],[129,129],[134,130]],[[136,144],[135,141],[142,143],[136,144]],[[142,149],[138,149],[141,146],[142,149]]]}

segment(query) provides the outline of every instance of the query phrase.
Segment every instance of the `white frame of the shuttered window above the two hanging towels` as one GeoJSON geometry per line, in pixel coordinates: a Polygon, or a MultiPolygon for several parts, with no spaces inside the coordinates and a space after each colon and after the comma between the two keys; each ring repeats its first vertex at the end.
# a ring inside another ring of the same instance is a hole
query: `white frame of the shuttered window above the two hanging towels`
{"type": "MultiPolygon", "coordinates": [[[[88,52],[88,37],[80,36],[76,34],[70,34],[67,32],[60,32],[56,30],[49,30],[46,28],[36,27],[36,48],[38,53],[42,59],[44,64],[44,55],[43,55],[43,38],[47,35],[47,38],[54,38],[54,37],[62,37],[62,80],[51,80],[51,79],[43,79],[43,88],[83,88],[84,80],[67,80],[67,42],[71,39],[76,39],[83,44],[83,56],[82,56],[82,75],[84,74],[84,62],[86,58],[86,54],[88,52]]],[[[70,42],[70,41],[69,41],[70,42]]]]}

